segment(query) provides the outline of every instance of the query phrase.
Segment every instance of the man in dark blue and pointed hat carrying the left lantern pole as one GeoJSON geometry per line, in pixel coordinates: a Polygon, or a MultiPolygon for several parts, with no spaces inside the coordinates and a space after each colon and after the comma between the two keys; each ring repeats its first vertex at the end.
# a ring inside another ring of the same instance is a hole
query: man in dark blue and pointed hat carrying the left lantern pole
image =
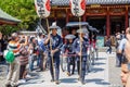
{"type": "Polygon", "coordinates": [[[50,26],[50,29],[52,30],[52,34],[49,34],[48,38],[46,39],[46,45],[49,46],[49,64],[50,64],[50,73],[52,76],[51,82],[55,82],[55,84],[58,84],[58,76],[60,76],[60,50],[63,45],[62,37],[57,35],[57,28],[56,24],[52,24],[50,26]],[[52,61],[53,60],[53,61],[52,61]],[[55,63],[55,74],[53,69],[53,63],[55,63]],[[55,75],[55,76],[54,76],[55,75]]]}

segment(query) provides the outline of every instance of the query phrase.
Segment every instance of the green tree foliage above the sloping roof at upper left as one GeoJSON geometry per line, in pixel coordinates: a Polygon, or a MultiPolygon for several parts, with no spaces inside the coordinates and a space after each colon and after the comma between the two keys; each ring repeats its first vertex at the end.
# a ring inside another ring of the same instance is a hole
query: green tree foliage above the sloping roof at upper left
{"type": "MultiPolygon", "coordinates": [[[[22,20],[15,29],[34,29],[36,27],[38,16],[34,0],[0,0],[0,8],[10,15],[22,20]]],[[[3,27],[14,28],[13,26],[3,27]]]]}

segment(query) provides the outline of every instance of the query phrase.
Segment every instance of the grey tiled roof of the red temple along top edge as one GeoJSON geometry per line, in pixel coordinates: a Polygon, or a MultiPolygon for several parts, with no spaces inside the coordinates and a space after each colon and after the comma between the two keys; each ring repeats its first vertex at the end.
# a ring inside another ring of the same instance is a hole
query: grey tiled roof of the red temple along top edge
{"type": "MultiPolygon", "coordinates": [[[[130,0],[86,0],[87,4],[129,4],[130,0]]],[[[52,5],[69,5],[69,0],[51,0],[52,5]]]]}

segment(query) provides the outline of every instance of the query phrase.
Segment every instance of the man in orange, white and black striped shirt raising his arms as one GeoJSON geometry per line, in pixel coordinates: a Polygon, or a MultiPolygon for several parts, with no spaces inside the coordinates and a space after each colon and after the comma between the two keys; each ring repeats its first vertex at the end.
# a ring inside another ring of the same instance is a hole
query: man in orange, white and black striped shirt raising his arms
{"type": "Polygon", "coordinates": [[[25,42],[24,44],[20,44],[20,38],[18,38],[18,34],[17,33],[13,33],[12,34],[12,40],[9,42],[8,45],[8,50],[12,50],[14,53],[14,61],[12,63],[10,63],[10,70],[9,70],[9,74],[6,77],[6,83],[5,86],[13,86],[13,87],[17,87],[18,83],[18,77],[20,77],[20,49],[22,46],[26,46],[27,45],[27,37],[25,37],[25,42]]]}

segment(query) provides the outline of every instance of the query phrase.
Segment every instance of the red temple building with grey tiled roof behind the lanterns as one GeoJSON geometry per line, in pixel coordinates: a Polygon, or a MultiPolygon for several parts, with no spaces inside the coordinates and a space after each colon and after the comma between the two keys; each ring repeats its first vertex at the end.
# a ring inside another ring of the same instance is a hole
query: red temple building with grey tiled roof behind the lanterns
{"type": "MultiPolygon", "coordinates": [[[[114,35],[129,26],[129,4],[130,0],[86,0],[86,13],[81,20],[98,28],[100,35],[114,35]]],[[[64,27],[68,22],[78,21],[70,12],[69,0],[51,0],[51,5],[50,22],[56,21],[64,27]]]]}

